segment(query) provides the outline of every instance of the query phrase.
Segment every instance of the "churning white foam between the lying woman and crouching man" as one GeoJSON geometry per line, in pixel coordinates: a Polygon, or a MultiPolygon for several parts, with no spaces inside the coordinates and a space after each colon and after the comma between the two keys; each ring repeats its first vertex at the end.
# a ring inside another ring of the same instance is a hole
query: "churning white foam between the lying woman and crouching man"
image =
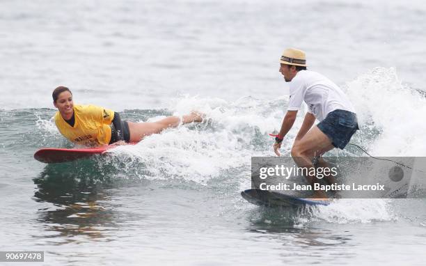
{"type": "Polygon", "coordinates": [[[237,102],[183,97],[175,100],[173,114],[201,111],[204,123],[166,130],[146,137],[136,146],[119,147],[114,153],[143,162],[150,178],[180,177],[205,184],[229,169],[246,166],[241,175],[249,180],[251,157],[272,155],[272,150],[262,147],[262,141],[272,143],[267,133],[281,123],[284,104],[283,100],[266,102],[253,97],[237,102]]]}

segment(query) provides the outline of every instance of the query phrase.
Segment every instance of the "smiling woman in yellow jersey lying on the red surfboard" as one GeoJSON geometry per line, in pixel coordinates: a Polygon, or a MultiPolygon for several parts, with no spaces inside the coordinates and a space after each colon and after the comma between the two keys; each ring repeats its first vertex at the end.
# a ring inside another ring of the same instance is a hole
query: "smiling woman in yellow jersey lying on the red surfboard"
{"type": "Polygon", "coordinates": [[[54,119],[59,132],[70,141],[83,146],[135,143],[168,127],[203,120],[200,114],[193,112],[182,116],[182,119],[168,116],[157,122],[132,123],[121,120],[117,112],[103,107],[74,104],[72,93],[67,87],[55,88],[52,97],[58,109],[54,119]]]}

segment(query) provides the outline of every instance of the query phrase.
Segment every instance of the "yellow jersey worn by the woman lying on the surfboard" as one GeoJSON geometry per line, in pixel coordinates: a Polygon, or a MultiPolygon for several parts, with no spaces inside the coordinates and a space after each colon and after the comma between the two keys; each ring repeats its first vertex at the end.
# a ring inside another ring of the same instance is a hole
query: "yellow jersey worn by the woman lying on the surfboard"
{"type": "Polygon", "coordinates": [[[70,141],[84,146],[102,146],[111,140],[114,112],[95,105],[74,104],[74,127],[68,124],[59,111],[54,119],[59,132],[70,141]]]}

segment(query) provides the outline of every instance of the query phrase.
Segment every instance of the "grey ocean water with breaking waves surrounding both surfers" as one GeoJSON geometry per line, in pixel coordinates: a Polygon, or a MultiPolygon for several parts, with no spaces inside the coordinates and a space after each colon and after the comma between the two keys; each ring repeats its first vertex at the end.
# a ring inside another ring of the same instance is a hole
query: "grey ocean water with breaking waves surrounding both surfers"
{"type": "MultiPolygon", "coordinates": [[[[0,251],[40,265],[424,265],[424,199],[244,201],[285,114],[285,47],[352,100],[352,142],[426,156],[422,1],[1,1],[0,251]],[[51,93],[132,121],[207,119],[65,164],[51,93]]],[[[283,143],[290,154],[303,114],[283,143]]],[[[363,155],[348,147],[329,155],[363,155]]],[[[24,264],[24,263],[22,263],[24,264]]],[[[14,264],[15,265],[15,264],[14,264]]],[[[19,265],[19,263],[16,263],[19,265]]]]}

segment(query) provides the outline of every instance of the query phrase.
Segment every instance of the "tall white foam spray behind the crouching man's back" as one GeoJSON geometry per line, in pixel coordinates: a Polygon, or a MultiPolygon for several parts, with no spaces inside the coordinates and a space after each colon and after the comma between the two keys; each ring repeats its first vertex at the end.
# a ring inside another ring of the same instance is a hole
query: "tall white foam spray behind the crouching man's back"
{"type": "Polygon", "coordinates": [[[379,132],[366,140],[373,155],[426,156],[426,98],[404,86],[395,68],[375,68],[348,82],[347,94],[360,124],[379,132]]]}

